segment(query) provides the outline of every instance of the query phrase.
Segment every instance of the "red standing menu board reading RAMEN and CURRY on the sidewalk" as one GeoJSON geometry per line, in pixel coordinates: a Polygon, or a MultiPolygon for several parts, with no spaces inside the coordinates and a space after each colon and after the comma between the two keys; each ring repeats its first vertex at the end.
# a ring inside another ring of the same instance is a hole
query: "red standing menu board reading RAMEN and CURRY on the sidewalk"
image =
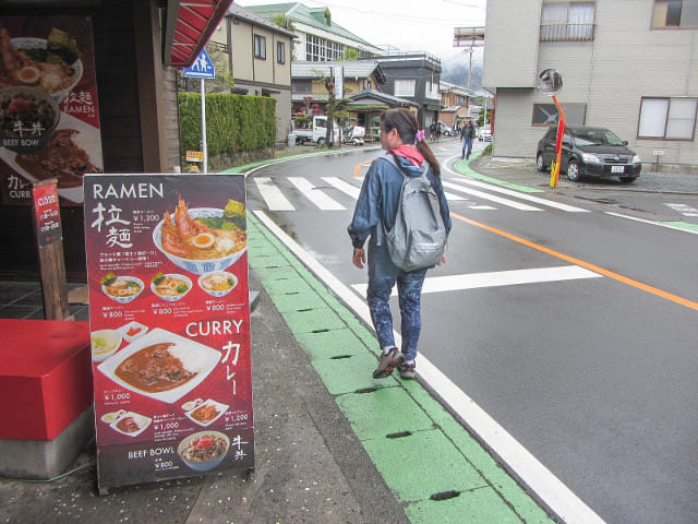
{"type": "Polygon", "coordinates": [[[242,175],[86,175],[100,489],[254,466],[242,175]]]}

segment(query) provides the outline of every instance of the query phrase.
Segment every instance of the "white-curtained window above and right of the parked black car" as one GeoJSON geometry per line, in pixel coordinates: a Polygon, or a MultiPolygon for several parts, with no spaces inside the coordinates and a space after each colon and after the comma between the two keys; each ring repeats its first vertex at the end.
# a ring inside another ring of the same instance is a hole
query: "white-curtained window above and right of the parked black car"
{"type": "Polygon", "coordinates": [[[638,139],[694,140],[698,98],[642,98],[638,139]]]}

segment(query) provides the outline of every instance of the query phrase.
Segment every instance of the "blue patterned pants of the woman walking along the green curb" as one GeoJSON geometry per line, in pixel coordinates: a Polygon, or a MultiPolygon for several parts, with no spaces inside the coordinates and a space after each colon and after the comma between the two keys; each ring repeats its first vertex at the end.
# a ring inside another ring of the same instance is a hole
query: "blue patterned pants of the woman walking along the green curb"
{"type": "Polygon", "coordinates": [[[366,300],[381,348],[395,345],[393,315],[388,300],[393,286],[397,282],[402,336],[401,352],[407,360],[413,360],[417,356],[417,343],[422,329],[420,299],[426,269],[407,273],[393,263],[385,246],[372,246],[371,243],[369,243],[366,300]]]}

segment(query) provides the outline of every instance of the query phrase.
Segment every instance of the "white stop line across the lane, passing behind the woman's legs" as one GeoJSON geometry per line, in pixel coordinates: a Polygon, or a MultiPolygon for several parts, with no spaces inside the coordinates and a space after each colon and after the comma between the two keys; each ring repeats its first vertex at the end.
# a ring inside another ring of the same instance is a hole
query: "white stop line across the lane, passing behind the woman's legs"
{"type": "MultiPolygon", "coordinates": [[[[519,284],[537,284],[543,282],[562,282],[577,278],[599,278],[601,276],[599,273],[585,270],[578,265],[434,276],[424,279],[422,294],[461,291],[464,289],[478,289],[481,287],[516,286],[519,284]]],[[[366,284],[354,284],[351,287],[353,287],[359,295],[365,297],[366,284]]],[[[393,289],[393,296],[397,296],[396,288],[393,289]]]]}

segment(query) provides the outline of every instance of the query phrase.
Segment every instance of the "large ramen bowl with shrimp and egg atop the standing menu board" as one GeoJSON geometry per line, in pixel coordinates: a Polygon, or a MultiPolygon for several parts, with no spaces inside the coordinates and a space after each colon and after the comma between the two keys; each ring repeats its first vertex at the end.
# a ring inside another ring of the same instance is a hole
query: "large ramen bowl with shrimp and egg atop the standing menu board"
{"type": "Polygon", "coordinates": [[[153,241],[174,265],[190,273],[225,271],[245,252],[248,235],[243,218],[226,216],[224,211],[189,210],[180,199],[174,213],[165,212],[153,230],[153,241]]]}

